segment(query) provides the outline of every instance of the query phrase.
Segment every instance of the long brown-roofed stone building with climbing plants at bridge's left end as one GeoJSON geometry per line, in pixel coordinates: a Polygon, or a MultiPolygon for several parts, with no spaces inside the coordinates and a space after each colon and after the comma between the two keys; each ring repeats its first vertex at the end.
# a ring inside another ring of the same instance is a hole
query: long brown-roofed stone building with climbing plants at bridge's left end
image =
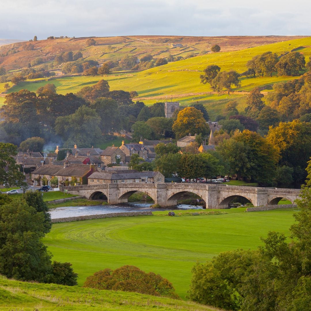
{"type": "Polygon", "coordinates": [[[85,164],[71,164],[64,162],[63,166],[60,165],[41,165],[31,173],[31,179],[34,185],[42,186],[42,179],[47,179],[47,184],[51,185],[51,179],[56,177],[58,184],[70,183],[76,180],[77,183],[82,185],[87,184],[87,178],[94,173],[95,165],[85,164]]]}

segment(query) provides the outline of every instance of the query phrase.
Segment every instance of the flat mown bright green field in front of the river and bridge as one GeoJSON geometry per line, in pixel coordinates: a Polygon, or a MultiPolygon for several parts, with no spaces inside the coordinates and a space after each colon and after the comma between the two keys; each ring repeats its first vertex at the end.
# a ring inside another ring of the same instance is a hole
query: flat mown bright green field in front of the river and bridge
{"type": "MultiPolygon", "coordinates": [[[[184,298],[196,261],[205,262],[226,250],[255,249],[269,230],[288,235],[294,223],[291,209],[246,213],[245,208],[236,208],[225,212],[54,224],[44,244],[54,260],[73,264],[79,285],[98,270],[129,264],[159,273],[184,298]]],[[[161,213],[167,212],[154,214],[161,213]]]]}

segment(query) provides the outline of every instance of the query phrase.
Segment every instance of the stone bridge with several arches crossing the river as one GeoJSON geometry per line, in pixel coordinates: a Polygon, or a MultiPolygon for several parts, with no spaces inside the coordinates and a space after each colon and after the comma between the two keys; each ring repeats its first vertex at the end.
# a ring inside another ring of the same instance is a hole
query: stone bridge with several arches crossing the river
{"type": "Polygon", "coordinates": [[[254,206],[269,206],[277,204],[282,198],[294,202],[299,197],[300,189],[259,188],[229,185],[212,185],[200,183],[103,183],[95,185],[80,185],[60,187],[68,193],[94,199],[104,194],[108,203],[118,204],[128,202],[135,192],[141,191],[149,195],[161,207],[177,205],[177,200],[186,192],[197,194],[205,203],[206,208],[227,208],[236,197],[248,199],[254,206]]]}

